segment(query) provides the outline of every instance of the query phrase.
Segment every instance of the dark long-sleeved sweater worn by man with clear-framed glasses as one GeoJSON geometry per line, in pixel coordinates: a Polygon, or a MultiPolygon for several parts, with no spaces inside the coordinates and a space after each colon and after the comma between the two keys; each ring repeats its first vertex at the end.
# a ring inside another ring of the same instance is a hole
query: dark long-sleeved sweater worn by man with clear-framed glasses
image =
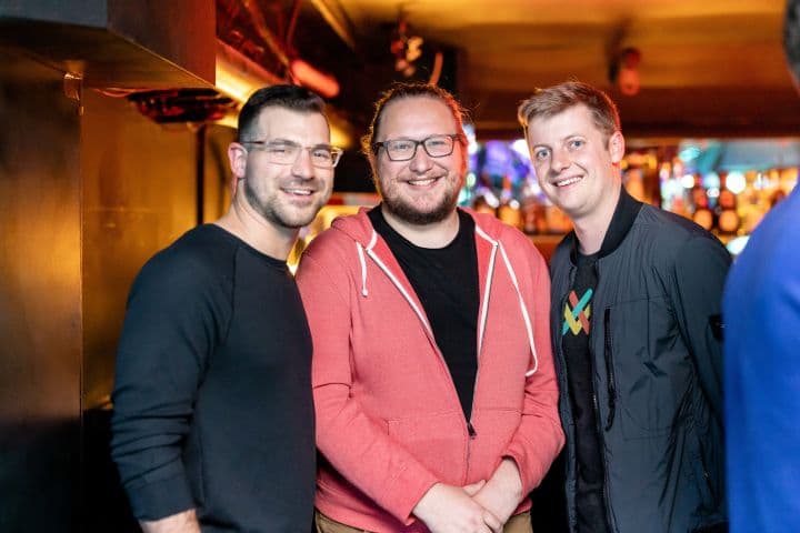
{"type": "Polygon", "coordinates": [[[139,519],[309,531],[311,334],[294,279],[217,225],[142,269],[117,359],[112,455],[139,519]]]}

